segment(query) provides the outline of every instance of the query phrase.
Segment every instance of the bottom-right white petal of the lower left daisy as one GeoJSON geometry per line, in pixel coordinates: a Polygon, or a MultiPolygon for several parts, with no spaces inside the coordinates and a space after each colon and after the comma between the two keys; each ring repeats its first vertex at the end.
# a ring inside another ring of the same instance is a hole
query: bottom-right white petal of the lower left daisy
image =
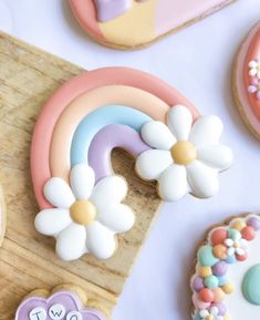
{"type": "Polygon", "coordinates": [[[96,258],[108,259],[116,249],[114,234],[98,221],[94,221],[86,228],[86,246],[96,258]]]}

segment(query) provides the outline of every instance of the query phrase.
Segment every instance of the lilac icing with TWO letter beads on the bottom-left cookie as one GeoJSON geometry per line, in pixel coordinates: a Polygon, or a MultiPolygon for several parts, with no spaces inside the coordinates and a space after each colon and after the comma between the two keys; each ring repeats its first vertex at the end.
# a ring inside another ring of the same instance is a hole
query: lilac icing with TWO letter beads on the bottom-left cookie
{"type": "Polygon", "coordinates": [[[48,299],[30,297],[19,306],[15,320],[106,320],[100,310],[85,308],[72,291],[59,291],[48,299]]]}

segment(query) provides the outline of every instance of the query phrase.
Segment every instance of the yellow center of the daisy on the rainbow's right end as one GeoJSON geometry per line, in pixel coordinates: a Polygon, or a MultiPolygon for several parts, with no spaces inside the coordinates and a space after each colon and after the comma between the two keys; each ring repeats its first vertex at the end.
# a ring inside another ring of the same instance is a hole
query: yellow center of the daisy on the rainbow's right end
{"type": "Polygon", "coordinates": [[[179,165],[188,165],[197,158],[197,149],[191,142],[179,141],[170,149],[174,162],[179,165]]]}

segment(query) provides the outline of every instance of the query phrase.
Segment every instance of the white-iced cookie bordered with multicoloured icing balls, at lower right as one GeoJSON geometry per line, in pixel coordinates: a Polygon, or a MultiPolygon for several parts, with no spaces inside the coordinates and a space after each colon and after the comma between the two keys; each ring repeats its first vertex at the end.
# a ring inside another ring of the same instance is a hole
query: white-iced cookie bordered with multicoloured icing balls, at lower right
{"type": "Polygon", "coordinates": [[[191,277],[195,320],[258,319],[260,217],[246,215],[212,228],[191,277]]]}

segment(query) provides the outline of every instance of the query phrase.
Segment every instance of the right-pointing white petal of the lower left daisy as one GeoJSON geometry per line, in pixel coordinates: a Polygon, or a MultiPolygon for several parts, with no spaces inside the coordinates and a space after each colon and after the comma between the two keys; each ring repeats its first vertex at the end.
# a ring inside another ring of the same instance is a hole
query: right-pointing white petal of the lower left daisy
{"type": "Polygon", "coordinates": [[[103,204],[97,208],[96,219],[114,233],[125,233],[134,226],[135,215],[126,205],[103,204]]]}

